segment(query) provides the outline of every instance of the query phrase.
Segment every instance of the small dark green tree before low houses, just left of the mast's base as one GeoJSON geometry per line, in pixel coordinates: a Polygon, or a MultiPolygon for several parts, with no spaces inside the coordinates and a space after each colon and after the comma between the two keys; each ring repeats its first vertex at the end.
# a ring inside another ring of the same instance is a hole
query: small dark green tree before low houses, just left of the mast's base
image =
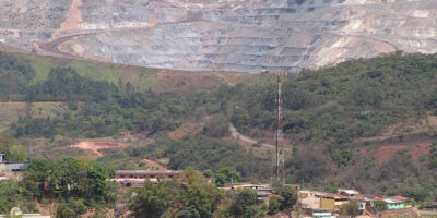
{"type": "Polygon", "coordinates": [[[237,197],[231,205],[231,215],[235,217],[252,217],[257,214],[257,192],[250,189],[243,189],[238,191],[237,197]]]}

